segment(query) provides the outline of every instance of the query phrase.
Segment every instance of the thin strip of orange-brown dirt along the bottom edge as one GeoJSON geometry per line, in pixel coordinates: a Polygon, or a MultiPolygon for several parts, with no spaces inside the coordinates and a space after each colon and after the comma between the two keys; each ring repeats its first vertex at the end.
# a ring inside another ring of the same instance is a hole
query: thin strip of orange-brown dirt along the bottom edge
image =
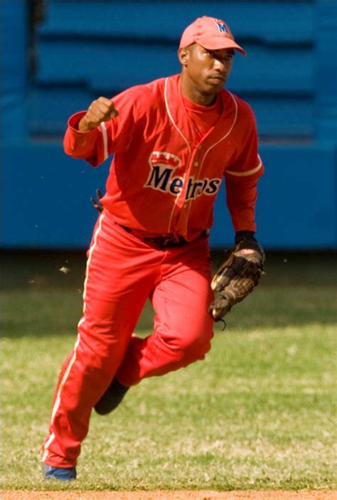
{"type": "Polygon", "coordinates": [[[337,500],[333,491],[1,491],[1,500],[337,500]]]}

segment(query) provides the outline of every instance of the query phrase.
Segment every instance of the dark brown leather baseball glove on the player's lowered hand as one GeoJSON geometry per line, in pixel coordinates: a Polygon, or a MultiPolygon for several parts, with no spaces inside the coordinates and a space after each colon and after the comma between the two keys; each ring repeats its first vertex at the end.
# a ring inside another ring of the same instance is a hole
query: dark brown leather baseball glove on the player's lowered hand
{"type": "Polygon", "coordinates": [[[250,231],[237,233],[235,247],[225,252],[213,277],[215,299],[208,310],[215,321],[223,319],[234,304],[245,299],[260,280],[264,252],[253,235],[250,231]]]}

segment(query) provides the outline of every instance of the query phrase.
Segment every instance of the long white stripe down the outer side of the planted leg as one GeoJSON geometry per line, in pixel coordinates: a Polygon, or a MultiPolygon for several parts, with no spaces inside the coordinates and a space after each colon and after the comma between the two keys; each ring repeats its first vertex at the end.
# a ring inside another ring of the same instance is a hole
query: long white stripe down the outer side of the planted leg
{"type": "MultiPolygon", "coordinates": [[[[100,230],[102,228],[102,220],[103,220],[103,218],[104,218],[104,216],[102,214],[100,216],[100,223],[99,223],[99,225],[97,227],[97,230],[95,232],[94,243],[92,243],[92,247],[89,250],[89,257],[87,259],[87,270],[86,270],[84,292],[83,292],[83,313],[85,312],[85,294],[86,294],[86,289],[87,289],[87,277],[88,277],[88,274],[89,274],[90,260],[91,260],[91,257],[92,257],[92,252],[93,252],[95,246],[97,245],[97,235],[98,235],[98,233],[100,233],[100,230]]],[[[82,317],[80,319],[80,322],[78,323],[78,326],[80,326],[84,321],[85,321],[85,317],[82,317]]],[[[70,363],[68,364],[68,368],[66,369],[66,371],[65,371],[65,373],[63,375],[62,381],[60,382],[60,385],[59,385],[59,388],[58,388],[58,393],[56,395],[55,403],[54,403],[54,406],[53,406],[53,411],[52,411],[52,414],[51,414],[50,425],[53,425],[53,421],[54,421],[56,412],[58,411],[58,408],[60,407],[61,391],[63,389],[63,386],[65,385],[65,382],[67,381],[67,378],[69,376],[70,370],[71,370],[73,364],[75,363],[75,360],[76,360],[76,350],[77,350],[77,347],[78,347],[79,344],[80,344],[80,334],[77,335],[77,340],[76,340],[75,346],[74,346],[73,357],[71,358],[70,363]]],[[[47,459],[47,457],[48,457],[48,450],[49,450],[50,444],[53,442],[54,439],[55,439],[55,434],[54,434],[54,432],[52,432],[50,434],[50,437],[49,437],[48,441],[46,442],[46,445],[44,446],[44,452],[43,452],[43,457],[42,457],[42,461],[43,462],[45,462],[46,459],[47,459]]]]}

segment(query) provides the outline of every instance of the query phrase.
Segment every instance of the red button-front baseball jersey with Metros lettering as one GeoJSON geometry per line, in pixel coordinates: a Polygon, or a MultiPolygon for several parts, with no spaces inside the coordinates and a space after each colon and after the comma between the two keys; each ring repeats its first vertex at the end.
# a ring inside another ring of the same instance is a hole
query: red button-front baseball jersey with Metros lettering
{"type": "Polygon", "coordinates": [[[235,231],[255,231],[257,181],[263,165],[255,117],[228,90],[221,115],[200,137],[183,103],[180,75],[137,85],[114,97],[119,116],[79,132],[85,112],[70,117],[65,152],[92,166],[114,154],[102,205],[114,220],[146,236],[198,238],[213,225],[213,204],[225,177],[235,231]]]}

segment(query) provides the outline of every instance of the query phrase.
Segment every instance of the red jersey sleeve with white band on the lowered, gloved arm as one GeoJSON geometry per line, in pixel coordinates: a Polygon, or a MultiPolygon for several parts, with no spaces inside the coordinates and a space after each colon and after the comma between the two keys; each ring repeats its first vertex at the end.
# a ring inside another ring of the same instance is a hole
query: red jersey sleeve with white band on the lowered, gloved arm
{"type": "Polygon", "coordinates": [[[255,117],[247,103],[241,110],[238,125],[238,153],[225,169],[227,205],[235,232],[255,232],[257,183],[264,173],[264,166],[258,154],[255,117]]]}

